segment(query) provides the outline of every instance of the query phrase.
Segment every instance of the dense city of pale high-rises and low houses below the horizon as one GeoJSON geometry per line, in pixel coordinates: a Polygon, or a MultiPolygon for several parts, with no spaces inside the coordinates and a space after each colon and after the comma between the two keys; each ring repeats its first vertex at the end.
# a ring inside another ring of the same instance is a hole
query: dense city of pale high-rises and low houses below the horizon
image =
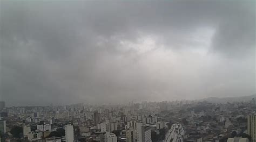
{"type": "Polygon", "coordinates": [[[12,106],[0,102],[0,141],[256,142],[254,99],[12,106]]]}

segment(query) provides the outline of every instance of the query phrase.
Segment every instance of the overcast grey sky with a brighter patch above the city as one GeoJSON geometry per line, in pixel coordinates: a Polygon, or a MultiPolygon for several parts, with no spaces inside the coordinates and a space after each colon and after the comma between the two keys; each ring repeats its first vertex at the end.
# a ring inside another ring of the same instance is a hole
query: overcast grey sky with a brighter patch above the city
{"type": "Polygon", "coordinates": [[[1,1],[0,10],[9,106],[256,93],[255,1],[1,1]]]}

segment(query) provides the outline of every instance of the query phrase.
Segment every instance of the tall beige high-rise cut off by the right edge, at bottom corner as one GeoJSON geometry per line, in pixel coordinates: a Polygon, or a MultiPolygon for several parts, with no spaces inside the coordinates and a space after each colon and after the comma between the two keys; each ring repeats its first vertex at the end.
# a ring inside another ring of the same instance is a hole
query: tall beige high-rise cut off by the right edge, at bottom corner
{"type": "Polygon", "coordinates": [[[248,115],[247,117],[247,131],[252,137],[252,142],[256,142],[256,115],[248,115]]]}

